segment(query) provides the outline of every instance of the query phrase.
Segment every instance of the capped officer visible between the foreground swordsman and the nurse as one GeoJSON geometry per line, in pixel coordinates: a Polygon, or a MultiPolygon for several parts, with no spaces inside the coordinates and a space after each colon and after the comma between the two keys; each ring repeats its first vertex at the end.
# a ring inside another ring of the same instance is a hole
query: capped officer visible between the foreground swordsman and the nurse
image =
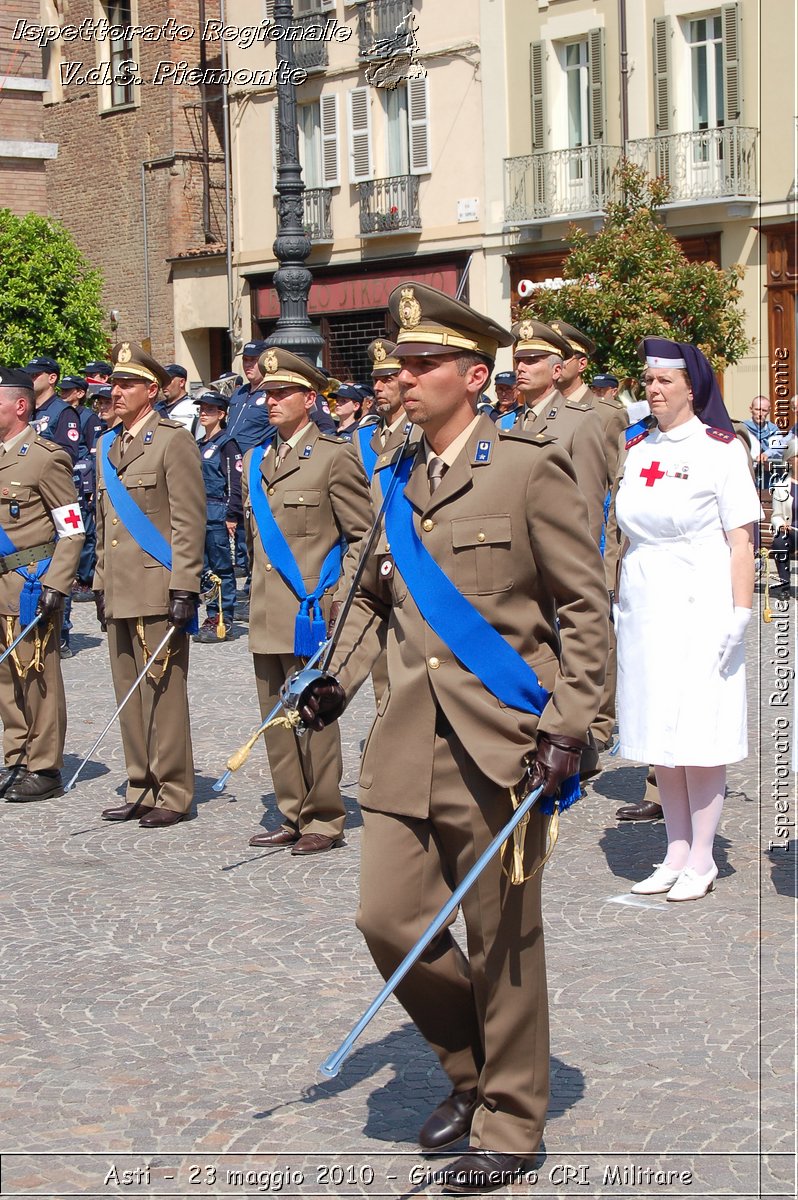
{"type": "Polygon", "coordinates": [[[596,546],[604,526],[607,494],[607,461],[601,422],[589,400],[569,400],[557,388],[568,360],[569,343],[541,320],[521,320],[512,326],[515,366],[523,414],[510,412],[497,425],[511,428],[520,424],[528,433],[557,438],[574,463],[576,481],[587,506],[589,529],[596,546]]]}

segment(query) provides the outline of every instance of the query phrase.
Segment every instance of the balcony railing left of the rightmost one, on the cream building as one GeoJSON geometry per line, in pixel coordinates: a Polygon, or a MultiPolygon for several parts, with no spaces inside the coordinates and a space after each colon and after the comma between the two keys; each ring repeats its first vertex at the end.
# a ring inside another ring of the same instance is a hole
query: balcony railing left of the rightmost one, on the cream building
{"type": "Polygon", "coordinates": [[[523,224],[604,212],[619,156],[619,146],[592,145],[505,158],[505,220],[523,224]]]}

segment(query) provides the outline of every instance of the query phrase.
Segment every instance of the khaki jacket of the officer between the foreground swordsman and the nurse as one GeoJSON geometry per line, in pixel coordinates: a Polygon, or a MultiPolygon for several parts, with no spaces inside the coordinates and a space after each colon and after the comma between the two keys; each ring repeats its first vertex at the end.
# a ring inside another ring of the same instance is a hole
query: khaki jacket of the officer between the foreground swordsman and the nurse
{"type": "Polygon", "coordinates": [[[604,500],[608,485],[604,431],[592,400],[589,397],[576,400],[574,396],[566,400],[562,392],[553,389],[540,415],[527,409],[522,421],[527,433],[544,433],[546,437],[556,438],[557,444],[574,463],[576,482],[587,502],[588,527],[598,546],[604,526],[604,500]]]}

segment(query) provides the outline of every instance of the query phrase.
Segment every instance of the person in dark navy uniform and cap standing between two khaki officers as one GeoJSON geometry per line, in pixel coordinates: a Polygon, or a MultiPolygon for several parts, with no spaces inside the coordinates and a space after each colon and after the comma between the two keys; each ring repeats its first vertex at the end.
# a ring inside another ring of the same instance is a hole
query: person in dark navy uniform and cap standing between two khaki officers
{"type": "Polygon", "coordinates": [[[208,616],[196,642],[224,642],[235,612],[235,572],[230,557],[230,536],[244,517],[241,508],[241,451],[226,430],[229,406],[218,391],[204,391],[196,401],[204,437],[198,443],[203,482],[208,497],[205,527],[205,571],[218,578],[218,592],[208,602],[208,616]],[[221,608],[220,608],[221,601],[221,608]],[[221,612],[221,620],[220,620],[221,612]]]}

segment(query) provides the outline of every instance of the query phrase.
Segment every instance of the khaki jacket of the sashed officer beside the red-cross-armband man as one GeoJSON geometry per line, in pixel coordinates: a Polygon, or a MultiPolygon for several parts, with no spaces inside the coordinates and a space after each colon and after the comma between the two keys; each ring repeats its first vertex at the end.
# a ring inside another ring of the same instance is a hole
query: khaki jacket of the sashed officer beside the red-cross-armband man
{"type": "Polygon", "coordinates": [[[169,572],[119,520],[98,452],[94,587],[106,593],[106,616],[125,619],[168,612],[170,588],[199,592],[206,506],[197,443],[178,421],[154,412],[120,462],[121,437],[114,439],[109,461],[128,494],[172,545],[169,572]]]}

